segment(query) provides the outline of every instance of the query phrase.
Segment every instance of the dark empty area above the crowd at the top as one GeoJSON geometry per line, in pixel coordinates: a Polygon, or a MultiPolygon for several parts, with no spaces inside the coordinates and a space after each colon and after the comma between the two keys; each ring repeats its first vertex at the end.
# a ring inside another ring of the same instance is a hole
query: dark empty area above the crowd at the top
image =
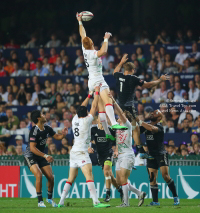
{"type": "Polygon", "coordinates": [[[105,31],[118,35],[124,43],[146,31],[151,41],[162,29],[175,37],[181,29],[192,29],[200,36],[199,0],[2,0],[0,7],[0,44],[11,38],[26,44],[37,35],[40,44],[50,40],[51,33],[65,45],[69,35],[78,32],[76,12],[91,11],[94,19],[84,23],[94,42],[102,41],[105,31]]]}

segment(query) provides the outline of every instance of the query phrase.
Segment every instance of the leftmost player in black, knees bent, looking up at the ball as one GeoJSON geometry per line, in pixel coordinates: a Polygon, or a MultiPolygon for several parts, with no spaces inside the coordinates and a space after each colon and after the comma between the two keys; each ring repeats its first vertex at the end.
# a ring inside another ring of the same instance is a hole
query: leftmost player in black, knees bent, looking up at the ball
{"type": "Polygon", "coordinates": [[[30,171],[36,177],[36,192],[38,196],[38,207],[46,207],[42,198],[42,174],[48,179],[48,203],[53,207],[57,207],[57,204],[52,200],[54,176],[50,163],[53,162],[53,157],[46,155],[44,149],[46,146],[46,140],[49,136],[56,140],[62,140],[68,130],[64,128],[62,134],[56,134],[56,132],[48,126],[45,116],[39,111],[34,110],[31,113],[31,120],[36,124],[32,127],[29,133],[29,144],[24,153],[25,163],[28,165],[30,171]]]}

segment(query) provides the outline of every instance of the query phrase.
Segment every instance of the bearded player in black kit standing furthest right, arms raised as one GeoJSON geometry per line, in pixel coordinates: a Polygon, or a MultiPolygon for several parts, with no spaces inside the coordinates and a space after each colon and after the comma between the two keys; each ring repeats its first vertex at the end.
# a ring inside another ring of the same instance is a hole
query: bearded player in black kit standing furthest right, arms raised
{"type": "Polygon", "coordinates": [[[159,168],[163,179],[173,194],[174,205],[179,205],[180,202],[174,181],[169,176],[168,154],[165,151],[163,143],[164,130],[162,124],[159,123],[162,119],[162,113],[160,110],[155,110],[149,113],[148,118],[151,120],[150,124],[139,121],[138,118],[136,118],[136,121],[140,124],[140,132],[145,133],[149,154],[154,158],[152,160],[147,159],[150,187],[153,196],[153,202],[151,202],[150,205],[160,205],[158,202],[158,184],[156,180],[159,168]]]}

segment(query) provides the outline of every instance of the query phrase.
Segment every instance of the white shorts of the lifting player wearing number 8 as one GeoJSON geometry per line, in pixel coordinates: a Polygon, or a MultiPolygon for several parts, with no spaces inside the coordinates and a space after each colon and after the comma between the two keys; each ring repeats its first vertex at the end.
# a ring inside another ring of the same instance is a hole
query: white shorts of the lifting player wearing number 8
{"type": "Polygon", "coordinates": [[[88,152],[70,152],[70,167],[81,168],[82,166],[92,163],[88,152]]]}

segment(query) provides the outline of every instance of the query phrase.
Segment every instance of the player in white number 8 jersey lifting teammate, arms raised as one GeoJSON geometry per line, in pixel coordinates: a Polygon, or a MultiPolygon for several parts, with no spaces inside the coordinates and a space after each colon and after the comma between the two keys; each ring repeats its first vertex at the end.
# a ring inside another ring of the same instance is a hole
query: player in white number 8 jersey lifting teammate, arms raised
{"type": "Polygon", "coordinates": [[[70,152],[70,171],[67,182],[65,183],[58,207],[64,207],[64,200],[70,190],[78,173],[78,168],[81,168],[87,182],[88,190],[93,199],[93,205],[97,208],[110,207],[108,204],[102,204],[98,200],[96,189],[94,186],[92,175],[92,162],[88,154],[88,144],[91,140],[91,125],[98,106],[100,87],[95,88],[95,97],[92,103],[90,113],[88,114],[87,105],[89,97],[81,104],[77,110],[77,114],[72,120],[72,129],[74,133],[74,145],[70,152]]]}

